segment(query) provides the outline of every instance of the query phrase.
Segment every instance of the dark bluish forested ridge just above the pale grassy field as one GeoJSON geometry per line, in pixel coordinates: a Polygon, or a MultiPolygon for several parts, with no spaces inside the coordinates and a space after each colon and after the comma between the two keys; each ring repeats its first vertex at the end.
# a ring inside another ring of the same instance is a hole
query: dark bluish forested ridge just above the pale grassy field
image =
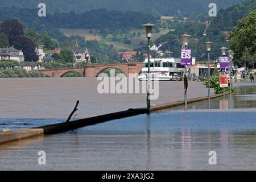
{"type": "Polygon", "coordinates": [[[109,32],[129,31],[130,28],[141,28],[141,24],[156,23],[160,16],[155,14],[144,14],[140,12],[106,11],[98,9],[82,14],[55,13],[39,17],[36,9],[18,9],[15,7],[0,7],[0,20],[18,18],[27,28],[33,28],[38,32],[48,31],[52,38],[65,40],[59,28],[97,28],[109,32]]]}

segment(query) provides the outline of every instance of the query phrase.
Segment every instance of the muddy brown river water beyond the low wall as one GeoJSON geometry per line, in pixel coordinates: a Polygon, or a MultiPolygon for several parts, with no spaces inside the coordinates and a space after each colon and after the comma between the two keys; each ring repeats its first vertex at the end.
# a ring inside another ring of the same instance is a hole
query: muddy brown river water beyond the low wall
{"type": "MultiPolygon", "coordinates": [[[[97,78],[0,78],[0,118],[68,118],[80,101],[76,118],[145,107],[146,94],[100,94],[97,78]]],[[[183,82],[159,82],[152,104],[180,101],[183,82]]],[[[207,96],[202,82],[189,84],[188,98],[207,96]]]]}

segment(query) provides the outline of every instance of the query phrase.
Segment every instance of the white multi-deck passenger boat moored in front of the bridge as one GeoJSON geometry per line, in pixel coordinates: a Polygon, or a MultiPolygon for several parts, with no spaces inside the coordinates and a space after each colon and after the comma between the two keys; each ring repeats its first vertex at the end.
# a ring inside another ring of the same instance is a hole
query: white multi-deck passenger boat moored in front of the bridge
{"type": "MultiPolygon", "coordinates": [[[[180,59],[150,59],[150,80],[177,81],[181,80],[185,68],[180,65],[180,59]]],[[[148,60],[145,59],[142,73],[138,79],[147,81],[148,60]]]]}

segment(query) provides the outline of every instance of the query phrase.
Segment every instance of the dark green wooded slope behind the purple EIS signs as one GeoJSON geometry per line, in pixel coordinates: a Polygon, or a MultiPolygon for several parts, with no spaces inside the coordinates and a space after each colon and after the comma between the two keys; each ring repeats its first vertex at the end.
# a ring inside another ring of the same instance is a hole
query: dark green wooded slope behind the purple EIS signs
{"type": "Polygon", "coordinates": [[[158,45],[159,43],[166,42],[161,49],[163,51],[171,50],[174,52],[174,57],[179,57],[181,47],[180,35],[187,32],[193,36],[189,46],[193,49],[193,56],[197,60],[207,60],[203,43],[208,40],[214,43],[210,59],[216,59],[220,55],[220,47],[229,47],[226,41],[228,34],[225,34],[226,32],[224,31],[232,31],[233,27],[237,26],[237,21],[245,18],[253,9],[256,9],[256,0],[247,0],[241,5],[220,10],[217,17],[211,19],[212,23],[208,28],[207,36],[204,36],[205,22],[192,19],[187,19],[184,22],[169,22],[168,26],[173,27],[175,31],[170,31],[168,34],[160,36],[159,39],[155,40],[155,44],[158,45]]]}

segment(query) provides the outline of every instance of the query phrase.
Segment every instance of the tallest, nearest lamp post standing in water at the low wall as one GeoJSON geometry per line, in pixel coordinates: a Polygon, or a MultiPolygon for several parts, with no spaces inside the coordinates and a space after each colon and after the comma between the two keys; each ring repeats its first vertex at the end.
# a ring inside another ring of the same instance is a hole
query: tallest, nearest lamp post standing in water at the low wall
{"type": "Polygon", "coordinates": [[[147,37],[147,113],[150,114],[150,38],[152,37],[152,29],[155,24],[147,23],[142,24],[146,28],[146,37],[147,37]]]}

